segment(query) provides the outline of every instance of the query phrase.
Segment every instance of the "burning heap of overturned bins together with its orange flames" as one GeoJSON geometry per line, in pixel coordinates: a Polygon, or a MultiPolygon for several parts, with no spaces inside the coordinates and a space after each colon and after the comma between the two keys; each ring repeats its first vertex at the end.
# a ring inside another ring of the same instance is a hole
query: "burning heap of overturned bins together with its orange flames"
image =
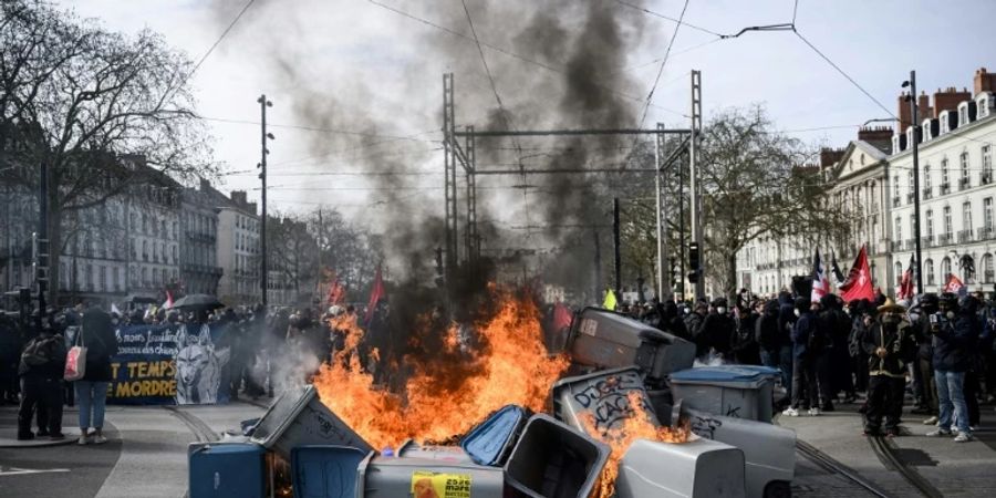
{"type": "MultiPolygon", "coordinates": [[[[355,317],[333,319],[345,347],[312,385],[277,400],[251,440],[290,463],[293,492],[307,496],[761,497],[788,486],[790,430],[652,401],[670,387],[666,378],[688,382],[694,346],[587,309],[574,317],[572,353],[550,354],[533,301],[490,292],[494,305],[473,326],[442,323],[438,312],[413,320],[412,341],[400,362],[386,363],[390,372],[375,372],[385,362],[376,349],[364,351],[369,332],[355,317]],[[585,354],[574,355],[579,335],[585,354]],[[604,354],[595,354],[598,343],[604,354]],[[635,364],[605,369],[620,361],[613,355],[635,364]],[[686,373],[671,375],[672,367],[686,373]],[[333,464],[354,477],[335,491],[314,488],[332,485],[309,473],[333,464]]],[[[756,395],[769,391],[737,377],[747,372],[713,384],[706,373],[695,382],[755,393],[723,400],[771,402],[756,395]]],[[[703,406],[696,391],[684,393],[703,406]]]]}

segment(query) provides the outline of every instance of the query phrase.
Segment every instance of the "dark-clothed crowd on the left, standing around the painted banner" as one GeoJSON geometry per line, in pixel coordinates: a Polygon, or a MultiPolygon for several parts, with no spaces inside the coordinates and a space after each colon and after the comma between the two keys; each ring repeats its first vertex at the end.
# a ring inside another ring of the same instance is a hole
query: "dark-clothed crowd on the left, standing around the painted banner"
{"type": "Polygon", "coordinates": [[[224,309],[135,309],[118,313],[81,303],[72,309],[49,309],[46,317],[20,318],[0,312],[0,405],[19,405],[21,440],[63,439],[63,406],[79,405],[80,445],[103,444],[105,403],[112,381],[112,356],[117,354],[116,331],[128,325],[219,326],[218,347],[228,347],[229,398],[239,395],[272,397],[282,382],[307,382],[322,362],[344,347],[342,330],[330,319],[355,317],[353,307],[263,307],[224,309]],[[85,374],[65,378],[66,354],[86,347],[85,374]],[[283,369],[283,370],[281,370],[283,369]],[[279,378],[278,378],[279,377],[279,378]],[[289,378],[295,377],[295,378],[289,378]],[[32,424],[37,429],[32,430],[32,424]]]}

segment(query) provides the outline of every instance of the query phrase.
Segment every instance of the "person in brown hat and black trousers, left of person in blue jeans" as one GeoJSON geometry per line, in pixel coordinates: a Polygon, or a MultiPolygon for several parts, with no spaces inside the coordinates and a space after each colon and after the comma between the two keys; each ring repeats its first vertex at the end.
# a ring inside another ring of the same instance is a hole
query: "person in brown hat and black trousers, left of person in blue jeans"
{"type": "Polygon", "coordinates": [[[916,342],[904,315],[906,309],[891,299],[879,307],[879,319],[870,322],[862,347],[869,356],[869,384],[864,435],[879,436],[885,418],[885,436],[899,436],[906,365],[914,357],[916,342]]]}

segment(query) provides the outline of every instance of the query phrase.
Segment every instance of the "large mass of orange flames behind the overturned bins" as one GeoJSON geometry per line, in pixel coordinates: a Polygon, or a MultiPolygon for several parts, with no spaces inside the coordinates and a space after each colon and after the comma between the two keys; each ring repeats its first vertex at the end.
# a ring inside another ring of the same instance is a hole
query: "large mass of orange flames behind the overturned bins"
{"type": "MultiPolygon", "coordinates": [[[[363,370],[357,347],[364,332],[356,318],[333,319],[335,329],[346,331],[345,347],[314,377],[322,403],[377,448],[407,438],[449,439],[508,404],[543,411],[568,360],[549,357],[535,303],[501,291],[495,299],[497,312],[476,324],[479,339],[473,344],[453,324],[439,338],[440,349],[404,359],[411,370],[404,392],[375,384],[363,370]]],[[[421,319],[414,328],[429,321],[421,319]]],[[[418,335],[413,334],[415,345],[418,335]]]]}

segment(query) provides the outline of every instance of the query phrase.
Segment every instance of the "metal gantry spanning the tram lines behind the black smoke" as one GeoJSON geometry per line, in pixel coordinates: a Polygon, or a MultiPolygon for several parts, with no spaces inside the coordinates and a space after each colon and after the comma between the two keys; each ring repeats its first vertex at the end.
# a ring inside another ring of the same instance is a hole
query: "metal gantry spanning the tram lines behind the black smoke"
{"type": "MultiPolygon", "coordinates": [[[[457,210],[457,165],[460,165],[466,175],[466,196],[467,212],[465,226],[465,249],[464,260],[471,264],[480,256],[481,239],[477,230],[477,175],[559,175],[559,174],[578,174],[578,173],[654,173],[656,185],[656,222],[657,222],[657,295],[672,295],[671,282],[665,271],[666,253],[667,253],[667,235],[666,220],[668,210],[666,209],[666,188],[667,179],[663,174],[666,165],[673,163],[676,158],[674,155],[671,159],[662,160],[662,154],[665,149],[666,135],[684,135],[688,138],[683,142],[689,147],[695,143],[695,131],[701,127],[701,101],[696,98],[698,91],[698,72],[693,72],[693,129],[666,129],[662,123],[653,129],[644,128],[582,128],[582,129],[489,129],[476,131],[474,126],[467,126],[464,131],[458,132],[455,124],[455,103],[454,103],[454,81],[453,73],[443,75],[443,154],[445,168],[445,204],[446,204],[446,235],[445,235],[445,262],[446,273],[449,274],[461,261],[459,252],[459,236],[457,227],[459,225],[459,212],[457,210]],[[501,170],[478,170],[476,157],[476,139],[484,137],[520,137],[520,136],[592,136],[592,135],[654,135],[654,167],[653,168],[630,168],[630,169],[610,169],[610,168],[553,168],[553,169],[526,169],[521,166],[516,169],[501,170]],[[463,146],[459,138],[464,138],[463,146]]],[[[694,152],[689,154],[691,163],[694,165],[694,152]]],[[[693,166],[693,185],[697,178],[693,166]]],[[[695,190],[693,189],[693,203],[695,200],[695,190]]],[[[678,199],[681,203],[681,199],[678,199]]],[[[693,219],[701,222],[697,212],[693,208],[693,219]]],[[[693,237],[695,229],[693,228],[693,237]]],[[[699,280],[701,282],[701,280],[699,280]]],[[[701,284],[701,283],[699,283],[701,284]]]]}

